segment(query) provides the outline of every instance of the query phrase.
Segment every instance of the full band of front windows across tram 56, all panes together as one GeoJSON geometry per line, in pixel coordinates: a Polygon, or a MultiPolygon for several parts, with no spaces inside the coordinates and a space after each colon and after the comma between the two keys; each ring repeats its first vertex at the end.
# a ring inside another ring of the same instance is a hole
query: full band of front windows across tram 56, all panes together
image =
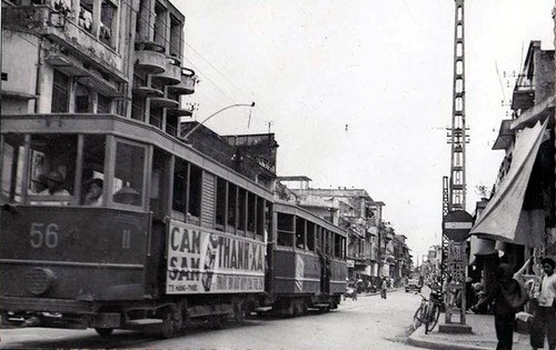
{"type": "Polygon", "coordinates": [[[4,134],[1,199],[31,206],[143,206],[147,148],[98,134],[4,134]],[[112,171],[105,169],[112,149],[112,171]],[[112,173],[110,181],[107,174],[112,173]],[[106,189],[107,183],[110,188],[106,189]],[[27,198],[27,200],[26,200],[27,198]]]}

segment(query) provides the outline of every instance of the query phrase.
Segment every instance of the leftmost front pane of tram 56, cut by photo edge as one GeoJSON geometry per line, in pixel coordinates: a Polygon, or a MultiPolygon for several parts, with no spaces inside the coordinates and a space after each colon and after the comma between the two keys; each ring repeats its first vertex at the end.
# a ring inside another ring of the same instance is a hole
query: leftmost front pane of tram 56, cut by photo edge
{"type": "Polygon", "coordinates": [[[2,144],[2,202],[21,202],[23,153],[23,136],[6,134],[2,144]]]}

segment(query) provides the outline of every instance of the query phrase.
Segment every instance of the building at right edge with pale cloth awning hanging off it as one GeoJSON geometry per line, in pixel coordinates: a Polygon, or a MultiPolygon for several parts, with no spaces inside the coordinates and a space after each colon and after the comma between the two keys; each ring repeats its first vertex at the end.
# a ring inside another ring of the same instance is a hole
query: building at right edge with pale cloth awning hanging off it
{"type": "MultiPolygon", "coordinates": [[[[490,199],[471,230],[497,241],[490,250],[504,251],[503,259],[515,266],[533,248],[538,254],[556,252],[554,83],[554,50],[532,41],[514,88],[512,119],[502,121],[493,147],[505,157],[490,199]]],[[[471,252],[488,250],[486,246],[486,241],[471,241],[471,252]]]]}

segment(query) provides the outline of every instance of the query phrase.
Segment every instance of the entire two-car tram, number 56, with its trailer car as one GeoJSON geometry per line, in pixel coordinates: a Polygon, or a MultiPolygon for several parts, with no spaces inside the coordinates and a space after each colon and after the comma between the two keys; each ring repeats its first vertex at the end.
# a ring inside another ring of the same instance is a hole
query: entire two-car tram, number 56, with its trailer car
{"type": "Polygon", "coordinates": [[[1,120],[0,316],[173,337],[337,307],[346,232],[147,123],[1,120]]]}

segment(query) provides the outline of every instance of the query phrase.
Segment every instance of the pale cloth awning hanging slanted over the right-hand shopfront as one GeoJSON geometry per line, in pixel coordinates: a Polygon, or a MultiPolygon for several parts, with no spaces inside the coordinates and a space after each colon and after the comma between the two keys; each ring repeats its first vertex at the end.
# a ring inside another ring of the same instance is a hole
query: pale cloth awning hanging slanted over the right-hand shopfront
{"type": "Polygon", "coordinates": [[[509,171],[469,234],[528,247],[542,243],[544,230],[538,230],[539,211],[522,208],[547,123],[539,121],[516,134],[509,171]]]}

